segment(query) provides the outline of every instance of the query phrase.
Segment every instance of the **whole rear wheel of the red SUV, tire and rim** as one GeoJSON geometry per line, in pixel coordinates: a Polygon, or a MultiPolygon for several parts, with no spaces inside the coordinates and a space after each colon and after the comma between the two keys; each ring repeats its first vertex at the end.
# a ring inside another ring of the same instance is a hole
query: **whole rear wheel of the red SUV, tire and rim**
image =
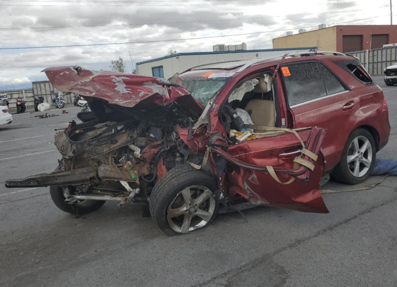
{"type": "Polygon", "coordinates": [[[372,137],[371,133],[366,129],[356,129],[349,135],[345,147],[343,148],[341,160],[332,171],[331,177],[341,183],[362,183],[371,175],[372,170],[374,170],[375,161],[376,144],[374,137],[372,137]],[[359,146],[358,153],[356,152],[355,142],[353,142],[356,139],[359,146]],[[371,146],[367,147],[367,149],[361,153],[366,140],[368,140],[371,146]],[[351,161],[350,163],[348,163],[348,157],[351,161]],[[358,172],[356,172],[357,170],[355,168],[357,163],[358,172]]]}

